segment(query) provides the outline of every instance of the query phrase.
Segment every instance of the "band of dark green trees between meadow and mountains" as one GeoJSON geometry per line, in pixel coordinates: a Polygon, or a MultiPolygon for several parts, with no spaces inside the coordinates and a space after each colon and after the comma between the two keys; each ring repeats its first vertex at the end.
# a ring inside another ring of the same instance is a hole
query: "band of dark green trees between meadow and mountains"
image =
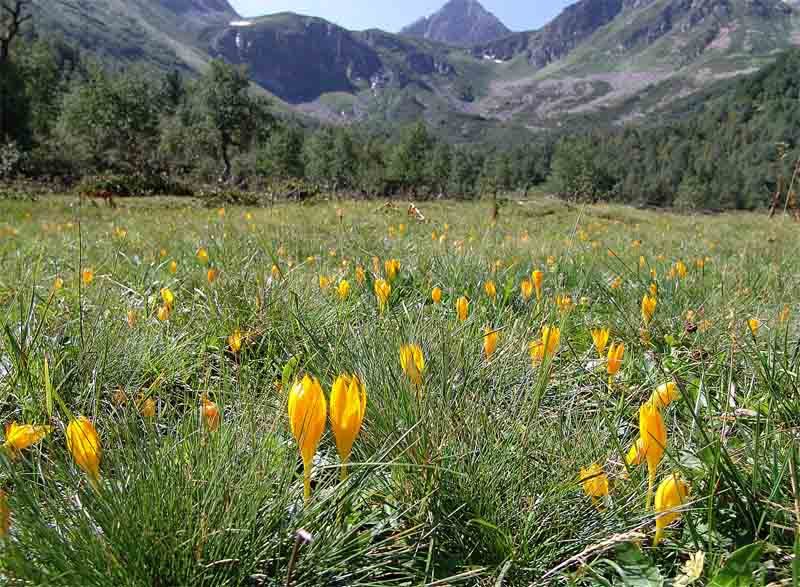
{"type": "Polygon", "coordinates": [[[573,201],[755,209],[777,192],[793,200],[800,155],[800,50],[644,123],[590,116],[502,145],[451,144],[424,119],[325,125],[287,113],[223,61],[200,77],[122,70],[57,39],[17,39],[0,68],[0,178],[121,197],[479,198],[535,188],[573,201]]]}

